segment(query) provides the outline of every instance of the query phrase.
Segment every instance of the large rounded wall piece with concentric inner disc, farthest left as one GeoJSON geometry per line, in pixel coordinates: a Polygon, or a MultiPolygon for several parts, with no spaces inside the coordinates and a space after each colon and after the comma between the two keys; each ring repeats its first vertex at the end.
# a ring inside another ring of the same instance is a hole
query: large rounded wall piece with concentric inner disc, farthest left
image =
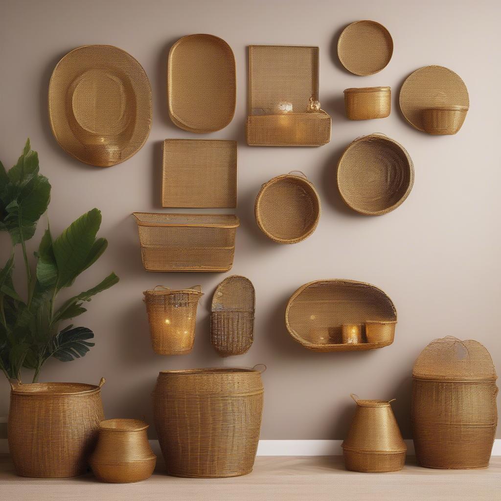
{"type": "Polygon", "coordinates": [[[108,167],[127,160],[151,129],[151,87],[141,65],[111,45],[86,45],[56,65],[49,119],[59,145],[81,162],[108,167]]]}

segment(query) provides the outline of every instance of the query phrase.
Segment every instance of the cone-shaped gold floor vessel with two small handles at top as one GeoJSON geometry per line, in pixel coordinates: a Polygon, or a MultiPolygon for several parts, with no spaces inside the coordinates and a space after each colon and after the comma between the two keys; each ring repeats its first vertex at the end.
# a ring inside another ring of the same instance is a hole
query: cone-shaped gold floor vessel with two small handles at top
{"type": "Polygon", "coordinates": [[[407,446],[391,410],[393,400],[360,400],[343,442],[346,469],[382,473],[404,467],[407,446]]]}

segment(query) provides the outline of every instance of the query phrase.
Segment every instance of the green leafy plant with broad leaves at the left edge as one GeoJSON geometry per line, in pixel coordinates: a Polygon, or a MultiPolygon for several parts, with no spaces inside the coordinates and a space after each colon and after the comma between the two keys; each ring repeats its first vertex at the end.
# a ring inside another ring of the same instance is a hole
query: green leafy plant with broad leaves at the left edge
{"type": "Polygon", "coordinates": [[[9,171],[0,162],[0,231],[7,231],[13,248],[0,269],[0,369],[8,379],[21,380],[23,368],[34,371],[37,381],[51,357],[63,362],[83,357],[94,346],[94,333],[86,327],[61,324],[86,312],[84,304],[118,282],[111,273],[97,286],[57,305],[58,293],[93,265],[108,242],[98,238],[101,212],[94,208],[68,226],[57,238],[48,227],[35,252],[32,270],[26,242],[47,210],[51,185],[39,173],[39,160],[30,140],[9,171]],[[22,298],[13,283],[14,250],[21,245],[26,269],[27,294],[22,298]]]}

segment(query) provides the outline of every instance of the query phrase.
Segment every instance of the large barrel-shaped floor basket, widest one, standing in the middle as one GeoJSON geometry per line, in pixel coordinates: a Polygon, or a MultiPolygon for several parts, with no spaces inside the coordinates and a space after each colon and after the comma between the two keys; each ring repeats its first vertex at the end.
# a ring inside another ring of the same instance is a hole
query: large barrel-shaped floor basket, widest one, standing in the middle
{"type": "Polygon", "coordinates": [[[250,473],[263,413],[261,372],[246,368],[162,371],[153,417],[169,475],[250,473]]]}

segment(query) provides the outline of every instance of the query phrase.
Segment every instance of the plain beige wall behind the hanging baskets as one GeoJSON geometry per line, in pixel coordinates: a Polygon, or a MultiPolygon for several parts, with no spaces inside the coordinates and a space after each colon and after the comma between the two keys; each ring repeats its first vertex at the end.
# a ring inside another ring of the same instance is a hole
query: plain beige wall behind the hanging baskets
{"type": "MultiPolygon", "coordinates": [[[[262,438],[340,439],[353,408],[350,392],[366,398],[397,397],[395,412],[404,435],[410,436],[412,364],[435,337],[475,338],[501,367],[500,15],[496,0],[3,0],[1,159],[6,166],[13,165],[26,137],[31,137],[40,154],[41,171],[52,183],[48,216],[55,233],[84,211],[94,206],[102,209],[101,233],[109,239],[109,248],[78,279],[76,288],[93,286],[111,270],[121,278],[78,319],[95,331],[96,347],[75,362],[51,361],[42,379],[97,383],[106,376],[106,415],[145,415],[151,422],[150,392],[158,371],[265,363],[269,369],[264,376],[262,438]],[[395,44],[389,66],[365,78],[344,71],[335,55],[340,29],[360,19],[381,22],[395,44]],[[169,47],[191,33],[211,33],[226,40],[237,65],[235,118],[224,130],[203,136],[170,122],[165,97],[169,47]],[[107,169],[70,158],[53,138],[47,118],[47,86],[54,66],[68,51],[85,44],[112,44],[132,54],[146,70],[153,90],[149,140],[130,160],[107,169]],[[320,47],[320,98],[332,115],[330,144],[312,149],[246,146],[248,44],[320,47]],[[429,64],[451,68],[468,87],[471,108],[456,136],[420,133],[405,122],[398,108],[398,90],[405,77],[429,64]],[[343,89],[373,85],[392,87],[390,117],[346,120],[343,89]],[[409,198],[380,217],[348,210],[334,178],[342,149],[371,132],[384,132],[399,141],[415,165],[409,198]],[[212,293],[229,274],[145,272],[136,224],[129,215],[135,210],[161,210],[161,143],[165,138],[189,137],[238,140],[241,227],[231,273],[250,278],[257,291],[256,341],[241,357],[220,359],[209,342],[212,293]],[[262,183],[293,169],[304,170],[318,187],[323,213],[310,238],[286,246],[268,240],[257,228],[254,199],[262,183]],[[327,354],[295,343],[284,325],[287,300],[302,284],[322,278],[362,280],[387,291],[399,316],[395,343],[369,352],[327,354]],[[200,301],[190,355],[162,357],[150,347],[142,291],[157,284],[174,288],[201,284],[206,293],[200,301]]],[[[41,226],[46,221],[44,216],[41,226]]],[[[38,244],[41,229],[34,243],[38,244]]],[[[1,238],[3,261],[9,245],[5,235],[1,238]]],[[[0,380],[0,415],[7,409],[8,385],[0,380]]]]}

